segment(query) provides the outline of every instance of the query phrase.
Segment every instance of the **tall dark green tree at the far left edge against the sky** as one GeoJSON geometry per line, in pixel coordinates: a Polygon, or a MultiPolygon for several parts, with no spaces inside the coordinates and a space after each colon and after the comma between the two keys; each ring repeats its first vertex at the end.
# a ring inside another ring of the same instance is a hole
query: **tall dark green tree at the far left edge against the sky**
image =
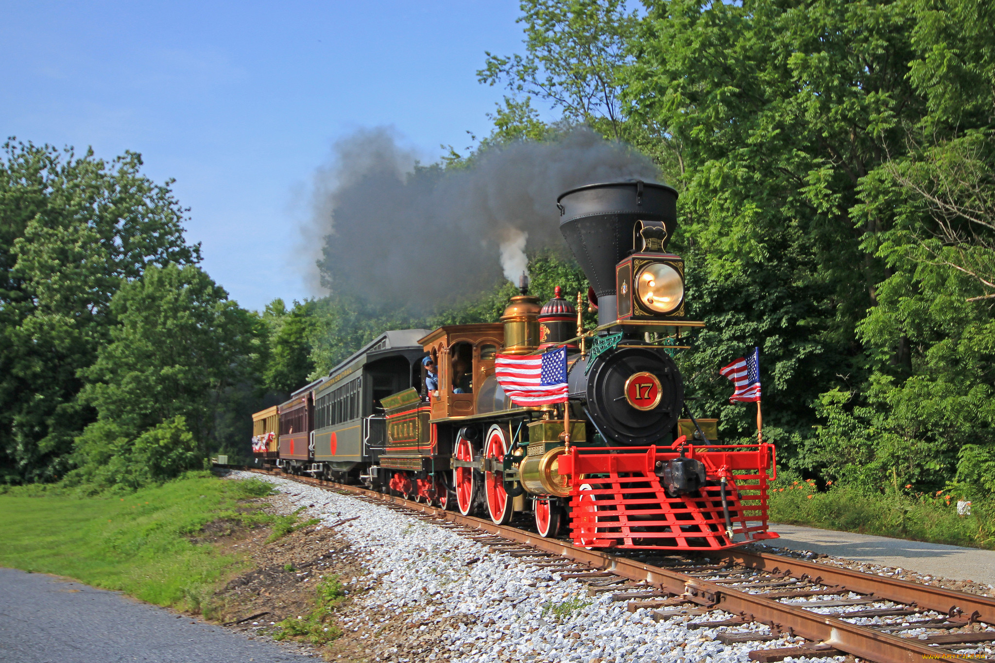
{"type": "Polygon", "coordinates": [[[0,481],[52,480],[95,417],[77,400],[113,324],[109,302],[147,265],[200,260],[184,210],[133,152],[8,141],[0,160],[0,481]]]}

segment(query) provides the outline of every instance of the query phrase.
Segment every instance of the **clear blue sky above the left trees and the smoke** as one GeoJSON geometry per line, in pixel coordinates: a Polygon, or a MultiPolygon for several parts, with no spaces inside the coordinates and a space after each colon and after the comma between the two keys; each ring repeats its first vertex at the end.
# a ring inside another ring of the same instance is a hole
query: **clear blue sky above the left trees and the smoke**
{"type": "Polygon", "coordinates": [[[315,294],[301,225],[332,143],[390,126],[425,162],[490,132],[485,51],[521,53],[516,0],[0,0],[0,132],[140,152],[240,304],[315,294]]]}

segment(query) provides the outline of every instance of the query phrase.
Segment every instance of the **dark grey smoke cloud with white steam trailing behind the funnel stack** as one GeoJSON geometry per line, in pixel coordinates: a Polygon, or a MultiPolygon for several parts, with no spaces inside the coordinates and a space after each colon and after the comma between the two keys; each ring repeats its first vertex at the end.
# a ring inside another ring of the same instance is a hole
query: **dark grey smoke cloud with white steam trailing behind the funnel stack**
{"type": "Polygon", "coordinates": [[[312,228],[330,290],[431,311],[517,284],[529,250],[567,251],[556,196],[596,182],[654,181],[657,169],[620,143],[577,129],[555,142],[490,149],[467,168],[422,167],[387,128],[334,145],[315,177],[312,228]]]}

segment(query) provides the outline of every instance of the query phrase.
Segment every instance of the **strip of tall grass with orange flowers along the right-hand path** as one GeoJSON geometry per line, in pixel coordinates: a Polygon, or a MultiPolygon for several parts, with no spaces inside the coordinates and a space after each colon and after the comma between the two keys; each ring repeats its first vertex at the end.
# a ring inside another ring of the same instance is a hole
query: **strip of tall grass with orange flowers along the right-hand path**
{"type": "MultiPolygon", "coordinates": [[[[788,474],[770,492],[770,521],[896,539],[995,550],[995,504],[975,500],[970,516],[958,516],[949,492],[916,494],[890,486],[868,494],[856,486],[827,486],[788,474]]],[[[774,528],[776,531],[776,528],[774,528]]],[[[777,541],[771,542],[777,545],[777,541]]]]}

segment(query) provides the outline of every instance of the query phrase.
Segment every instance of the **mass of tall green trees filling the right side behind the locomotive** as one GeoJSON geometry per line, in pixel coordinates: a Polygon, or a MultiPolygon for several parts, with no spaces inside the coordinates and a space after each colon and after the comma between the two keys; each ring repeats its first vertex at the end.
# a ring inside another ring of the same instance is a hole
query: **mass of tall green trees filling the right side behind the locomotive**
{"type": "Polygon", "coordinates": [[[757,345],[787,465],[865,492],[995,485],[991,3],[521,9],[525,54],[489,54],[482,82],[630,141],[681,191],[696,414],[752,434],[717,369],[757,345]]]}

